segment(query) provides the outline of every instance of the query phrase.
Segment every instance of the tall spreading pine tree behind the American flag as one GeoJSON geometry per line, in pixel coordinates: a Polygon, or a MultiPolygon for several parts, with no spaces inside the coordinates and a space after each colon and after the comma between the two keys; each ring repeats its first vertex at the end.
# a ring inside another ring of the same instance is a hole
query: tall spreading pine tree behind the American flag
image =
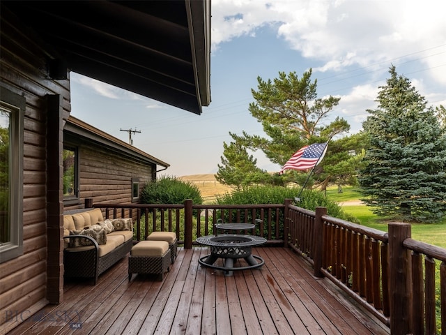
{"type": "MultiPolygon", "coordinates": [[[[229,133],[233,138],[233,143],[245,151],[263,151],[271,163],[284,165],[301,147],[314,142],[325,142],[334,135],[346,133],[350,129],[346,120],[337,117],[327,122],[330,113],[339,104],[340,98],[333,96],[318,98],[317,80],[312,80],[311,77],[311,69],[303,73],[302,77],[298,77],[295,72],[288,75],[279,72],[279,77],[274,80],[263,80],[258,77],[257,89],[252,89],[255,102],[249,104],[249,112],[261,123],[266,137],[249,135],[245,131],[242,135],[229,133]]],[[[321,188],[325,188],[329,182],[333,181],[339,184],[352,181],[352,176],[357,174],[357,160],[348,153],[355,149],[356,154],[360,154],[363,148],[357,145],[352,148],[349,144],[351,141],[342,141],[337,145],[332,145],[334,142],[337,140],[330,141],[324,161],[312,174],[321,188]],[[345,166],[346,158],[349,161],[348,169],[345,166]],[[337,165],[337,168],[324,172],[324,162],[329,161],[330,165],[337,165]]],[[[232,172],[236,170],[231,167],[229,159],[226,159],[224,165],[227,167],[225,172],[228,174],[231,170],[232,172]]],[[[228,174],[225,180],[230,179],[228,174]]],[[[287,182],[304,184],[305,179],[307,179],[307,172],[287,170],[281,176],[269,176],[261,180],[261,184],[287,182]]],[[[314,179],[311,179],[307,185],[315,184],[314,179]]]]}

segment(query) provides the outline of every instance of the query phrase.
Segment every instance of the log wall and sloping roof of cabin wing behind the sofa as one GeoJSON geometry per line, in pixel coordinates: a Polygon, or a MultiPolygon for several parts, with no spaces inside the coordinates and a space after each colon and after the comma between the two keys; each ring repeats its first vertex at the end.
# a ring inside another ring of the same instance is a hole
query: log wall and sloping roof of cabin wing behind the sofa
{"type": "Polygon", "coordinates": [[[77,194],[64,199],[64,211],[84,208],[86,199],[94,204],[139,202],[132,196],[134,179],[141,193],[145,184],[156,179],[158,165],[169,167],[168,163],[73,116],[64,126],[63,146],[75,151],[77,184],[77,194]]]}

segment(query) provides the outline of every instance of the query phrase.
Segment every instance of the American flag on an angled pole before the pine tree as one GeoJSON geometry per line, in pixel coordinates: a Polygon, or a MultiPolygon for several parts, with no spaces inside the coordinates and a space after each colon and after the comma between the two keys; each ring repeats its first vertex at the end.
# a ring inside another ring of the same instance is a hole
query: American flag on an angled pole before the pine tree
{"type": "Polygon", "coordinates": [[[298,151],[285,163],[279,174],[284,173],[284,170],[308,170],[314,168],[320,161],[322,161],[325,152],[327,151],[328,142],[314,143],[306,145],[298,151]]]}

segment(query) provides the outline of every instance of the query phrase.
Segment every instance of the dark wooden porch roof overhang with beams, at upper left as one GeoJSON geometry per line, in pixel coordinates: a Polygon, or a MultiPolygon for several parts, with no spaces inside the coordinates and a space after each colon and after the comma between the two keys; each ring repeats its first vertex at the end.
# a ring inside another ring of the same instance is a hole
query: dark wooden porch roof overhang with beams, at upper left
{"type": "Polygon", "coordinates": [[[201,114],[210,0],[4,1],[68,70],[201,114]]]}

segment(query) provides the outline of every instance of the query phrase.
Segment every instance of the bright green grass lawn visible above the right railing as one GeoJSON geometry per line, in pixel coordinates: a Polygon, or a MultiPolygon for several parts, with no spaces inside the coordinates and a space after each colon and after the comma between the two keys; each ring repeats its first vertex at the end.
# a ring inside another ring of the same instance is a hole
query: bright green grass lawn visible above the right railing
{"type": "MultiPolygon", "coordinates": [[[[335,202],[348,202],[362,198],[361,193],[352,186],[344,187],[343,193],[337,193],[337,187],[329,188],[327,196],[335,202]]],[[[373,214],[370,207],[365,204],[344,204],[342,209],[358,218],[362,225],[387,232],[387,222],[373,214]]],[[[439,223],[413,223],[412,238],[446,248],[446,219],[439,223]]]]}

